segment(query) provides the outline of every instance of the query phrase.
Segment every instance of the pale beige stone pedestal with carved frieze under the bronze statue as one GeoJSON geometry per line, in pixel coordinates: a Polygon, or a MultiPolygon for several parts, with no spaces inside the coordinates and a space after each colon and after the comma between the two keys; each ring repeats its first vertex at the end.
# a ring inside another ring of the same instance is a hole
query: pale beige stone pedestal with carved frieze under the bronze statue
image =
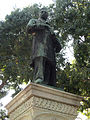
{"type": "Polygon", "coordinates": [[[10,120],[75,120],[82,97],[30,83],[7,106],[10,120]]]}

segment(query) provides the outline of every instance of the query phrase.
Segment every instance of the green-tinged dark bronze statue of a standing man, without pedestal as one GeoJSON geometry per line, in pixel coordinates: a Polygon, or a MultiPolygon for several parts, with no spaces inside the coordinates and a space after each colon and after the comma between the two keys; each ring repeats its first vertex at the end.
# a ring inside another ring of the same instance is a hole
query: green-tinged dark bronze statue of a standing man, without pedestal
{"type": "Polygon", "coordinates": [[[55,52],[61,50],[55,33],[47,22],[48,12],[42,9],[39,19],[31,19],[27,33],[32,34],[32,63],[34,68],[33,82],[56,86],[55,52]]]}

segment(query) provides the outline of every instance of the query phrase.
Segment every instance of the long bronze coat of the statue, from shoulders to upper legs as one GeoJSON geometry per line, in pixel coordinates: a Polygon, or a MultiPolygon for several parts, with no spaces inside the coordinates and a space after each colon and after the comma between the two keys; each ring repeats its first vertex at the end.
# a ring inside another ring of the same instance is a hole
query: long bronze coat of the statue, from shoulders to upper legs
{"type": "Polygon", "coordinates": [[[27,32],[33,35],[32,61],[36,57],[45,57],[55,62],[55,52],[59,52],[61,46],[49,24],[40,19],[31,19],[27,25],[27,32]]]}

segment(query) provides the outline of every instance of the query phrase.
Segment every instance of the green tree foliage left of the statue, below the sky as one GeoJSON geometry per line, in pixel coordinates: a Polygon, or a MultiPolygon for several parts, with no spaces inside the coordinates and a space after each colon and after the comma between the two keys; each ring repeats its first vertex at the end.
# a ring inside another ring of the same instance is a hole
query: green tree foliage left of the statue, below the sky
{"type": "Polygon", "coordinates": [[[31,36],[26,34],[26,25],[37,18],[37,4],[23,10],[17,9],[0,22],[0,70],[3,72],[3,83],[20,91],[19,85],[28,83],[32,78],[30,68],[31,36]]]}

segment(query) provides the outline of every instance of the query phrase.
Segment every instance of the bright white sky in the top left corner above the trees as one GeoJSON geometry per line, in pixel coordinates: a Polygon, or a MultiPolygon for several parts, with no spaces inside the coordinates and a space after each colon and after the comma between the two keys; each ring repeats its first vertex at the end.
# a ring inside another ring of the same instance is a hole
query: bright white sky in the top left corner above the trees
{"type": "Polygon", "coordinates": [[[34,3],[49,5],[52,0],[0,0],[0,20],[4,20],[7,14],[10,14],[15,8],[24,8],[34,3]]]}

